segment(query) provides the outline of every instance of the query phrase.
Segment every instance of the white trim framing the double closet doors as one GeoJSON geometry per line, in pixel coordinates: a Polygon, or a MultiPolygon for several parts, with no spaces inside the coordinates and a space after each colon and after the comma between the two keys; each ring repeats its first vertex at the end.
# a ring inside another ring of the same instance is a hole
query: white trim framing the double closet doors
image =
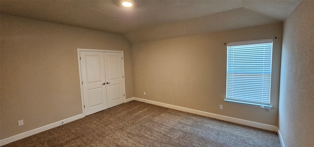
{"type": "Polygon", "coordinates": [[[110,52],[110,53],[121,53],[123,62],[122,62],[122,67],[123,67],[123,101],[126,101],[126,83],[125,83],[125,73],[124,73],[124,54],[123,51],[114,51],[114,50],[98,50],[98,49],[80,49],[78,48],[78,72],[79,72],[79,87],[80,87],[80,97],[81,97],[81,104],[82,104],[82,114],[83,116],[85,115],[85,109],[84,109],[84,94],[83,94],[83,86],[82,86],[82,71],[81,71],[81,66],[80,66],[80,51],[85,51],[85,52],[110,52]]]}

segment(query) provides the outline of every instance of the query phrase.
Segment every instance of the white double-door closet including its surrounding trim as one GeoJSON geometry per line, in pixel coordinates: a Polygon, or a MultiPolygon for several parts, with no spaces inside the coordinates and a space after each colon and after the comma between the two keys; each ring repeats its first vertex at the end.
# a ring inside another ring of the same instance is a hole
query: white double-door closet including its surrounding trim
{"type": "Polygon", "coordinates": [[[125,101],[123,51],[78,49],[83,115],[125,101]]]}

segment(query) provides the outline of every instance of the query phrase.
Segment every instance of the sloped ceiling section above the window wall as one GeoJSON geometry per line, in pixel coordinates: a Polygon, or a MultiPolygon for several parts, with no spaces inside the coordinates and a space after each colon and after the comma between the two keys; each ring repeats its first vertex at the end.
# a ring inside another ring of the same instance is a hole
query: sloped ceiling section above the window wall
{"type": "Polygon", "coordinates": [[[124,36],[132,43],[138,43],[278,22],[280,21],[261,13],[246,8],[237,8],[186,21],[142,29],[126,33],[124,36]]]}

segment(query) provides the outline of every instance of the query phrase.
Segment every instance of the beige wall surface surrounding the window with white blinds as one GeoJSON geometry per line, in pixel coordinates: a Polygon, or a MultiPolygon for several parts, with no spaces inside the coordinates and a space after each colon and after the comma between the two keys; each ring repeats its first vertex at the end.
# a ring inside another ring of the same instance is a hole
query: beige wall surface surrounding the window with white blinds
{"type": "Polygon", "coordinates": [[[279,23],[133,44],[134,96],[277,126],[281,38],[279,23]],[[275,36],[279,39],[274,39],[273,46],[273,109],[224,102],[227,58],[224,43],[275,36]],[[219,110],[220,104],[223,110],[219,110]]]}

